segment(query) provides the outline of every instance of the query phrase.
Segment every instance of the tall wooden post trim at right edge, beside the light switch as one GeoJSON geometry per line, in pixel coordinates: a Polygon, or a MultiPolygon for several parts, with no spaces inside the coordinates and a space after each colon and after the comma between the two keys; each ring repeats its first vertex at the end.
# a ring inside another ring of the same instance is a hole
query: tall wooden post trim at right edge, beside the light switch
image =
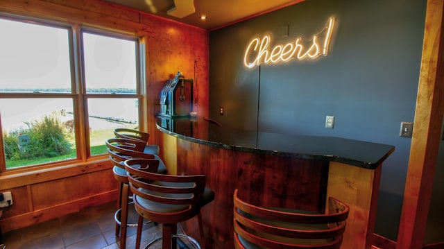
{"type": "Polygon", "coordinates": [[[427,1],[424,44],[399,249],[422,248],[444,113],[443,0],[427,1]]]}

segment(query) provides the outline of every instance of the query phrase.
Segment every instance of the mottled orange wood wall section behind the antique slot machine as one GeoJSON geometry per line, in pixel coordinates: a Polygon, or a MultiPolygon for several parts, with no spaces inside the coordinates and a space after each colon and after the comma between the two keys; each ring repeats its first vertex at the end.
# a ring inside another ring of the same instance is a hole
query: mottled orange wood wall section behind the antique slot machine
{"type": "MultiPolygon", "coordinates": [[[[193,110],[208,117],[209,35],[191,26],[164,22],[142,16],[142,22],[154,27],[148,35],[146,60],[146,94],[148,96],[148,132],[155,134],[155,115],[160,112],[160,90],[167,78],[182,71],[193,78],[193,110]]],[[[159,143],[157,136],[155,144],[159,143]]]]}

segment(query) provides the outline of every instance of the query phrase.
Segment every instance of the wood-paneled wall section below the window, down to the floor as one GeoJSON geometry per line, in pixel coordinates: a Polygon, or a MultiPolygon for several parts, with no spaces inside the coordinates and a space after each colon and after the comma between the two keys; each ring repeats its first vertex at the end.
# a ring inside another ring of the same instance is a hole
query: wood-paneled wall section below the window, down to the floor
{"type": "Polygon", "coordinates": [[[1,232],[117,200],[117,181],[108,159],[58,170],[0,177],[1,191],[11,191],[13,205],[3,212],[1,232]]]}

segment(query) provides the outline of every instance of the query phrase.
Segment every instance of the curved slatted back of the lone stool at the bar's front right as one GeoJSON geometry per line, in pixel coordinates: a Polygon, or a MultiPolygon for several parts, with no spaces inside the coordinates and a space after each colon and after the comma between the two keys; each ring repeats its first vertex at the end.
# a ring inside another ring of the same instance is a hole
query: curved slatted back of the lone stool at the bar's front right
{"type": "Polygon", "coordinates": [[[258,207],[234,191],[234,248],[340,248],[349,207],[329,198],[328,214],[258,207]]]}

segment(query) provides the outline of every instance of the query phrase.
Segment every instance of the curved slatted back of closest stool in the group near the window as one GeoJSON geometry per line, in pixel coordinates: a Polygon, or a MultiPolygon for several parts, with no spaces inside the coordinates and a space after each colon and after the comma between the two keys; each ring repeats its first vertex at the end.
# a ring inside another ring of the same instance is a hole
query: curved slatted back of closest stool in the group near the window
{"type": "Polygon", "coordinates": [[[137,212],[148,220],[169,224],[199,214],[205,175],[163,175],[156,173],[151,163],[145,159],[124,162],[137,212]]]}

